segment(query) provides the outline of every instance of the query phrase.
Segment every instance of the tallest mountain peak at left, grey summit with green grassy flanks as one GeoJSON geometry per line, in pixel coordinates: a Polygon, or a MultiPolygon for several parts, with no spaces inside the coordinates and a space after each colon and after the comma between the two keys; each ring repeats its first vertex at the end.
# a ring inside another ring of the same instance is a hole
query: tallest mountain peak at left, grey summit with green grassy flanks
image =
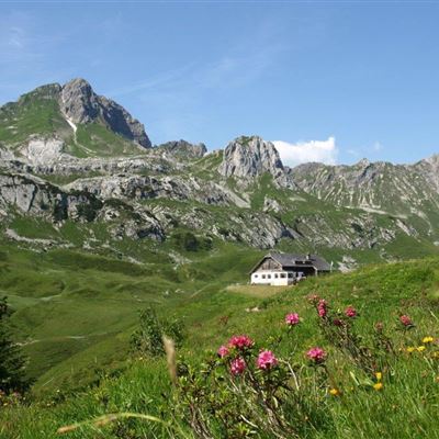
{"type": "Polygon", "coordinates": [[[80,158],[130,156],[151,147],[140,122],[80,78],[38,87],[0,106],[1,144],[21,150],[35,140],[60,143],[63,151],[80,158]]]}

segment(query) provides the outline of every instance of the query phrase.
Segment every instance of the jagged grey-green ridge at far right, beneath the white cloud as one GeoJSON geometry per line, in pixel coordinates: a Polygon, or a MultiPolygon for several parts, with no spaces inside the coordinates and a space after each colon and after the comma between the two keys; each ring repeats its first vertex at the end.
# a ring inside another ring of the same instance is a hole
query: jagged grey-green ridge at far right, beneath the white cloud
{"type": "Polygon", "coordinates": [[[426,204],[439,207],[437,159],[416,165],[361,160],[353,166],[307,164],[290,171],[296,185],[318,199],[401,217],[425,216],[426,204]]]}

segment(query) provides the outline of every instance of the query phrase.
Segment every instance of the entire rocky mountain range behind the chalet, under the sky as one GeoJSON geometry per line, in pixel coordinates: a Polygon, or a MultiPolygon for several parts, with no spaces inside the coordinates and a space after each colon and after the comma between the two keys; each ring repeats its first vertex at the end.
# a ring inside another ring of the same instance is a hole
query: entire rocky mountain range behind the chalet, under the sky
{"type": "Polygon", "coordinates": [[[258,136],[212,153],[184,140],[151,147],[143,125],[83,80],[0,108],[0,229],[36,249],[49,241],[142,260],[189,233],[311,249],[346,268],[438,252],[438,188],[439,156],[291,169],[258,136]]]}

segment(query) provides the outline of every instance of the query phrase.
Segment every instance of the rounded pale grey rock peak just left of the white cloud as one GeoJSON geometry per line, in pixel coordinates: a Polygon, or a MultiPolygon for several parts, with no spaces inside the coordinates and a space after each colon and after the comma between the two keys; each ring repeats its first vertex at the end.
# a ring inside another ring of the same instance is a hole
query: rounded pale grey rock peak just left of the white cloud
{"type": "Polygon", "coordinates": [[[271,142],[241,136],[226,146],[218,171],[224,177],[252,178],[264,172],[277,177],[283,173],[283,165],[271,142]]]}

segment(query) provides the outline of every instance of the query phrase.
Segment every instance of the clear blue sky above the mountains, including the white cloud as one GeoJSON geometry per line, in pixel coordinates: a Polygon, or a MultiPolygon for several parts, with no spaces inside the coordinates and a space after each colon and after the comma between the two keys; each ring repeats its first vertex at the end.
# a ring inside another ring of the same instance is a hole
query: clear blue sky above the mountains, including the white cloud
{"type": "Polygon", "coordinates": [[[438,20],[437,1],[0,0],[0,103],[83,77],[154,144],[413,162],[439,153],[438,20]]]}

